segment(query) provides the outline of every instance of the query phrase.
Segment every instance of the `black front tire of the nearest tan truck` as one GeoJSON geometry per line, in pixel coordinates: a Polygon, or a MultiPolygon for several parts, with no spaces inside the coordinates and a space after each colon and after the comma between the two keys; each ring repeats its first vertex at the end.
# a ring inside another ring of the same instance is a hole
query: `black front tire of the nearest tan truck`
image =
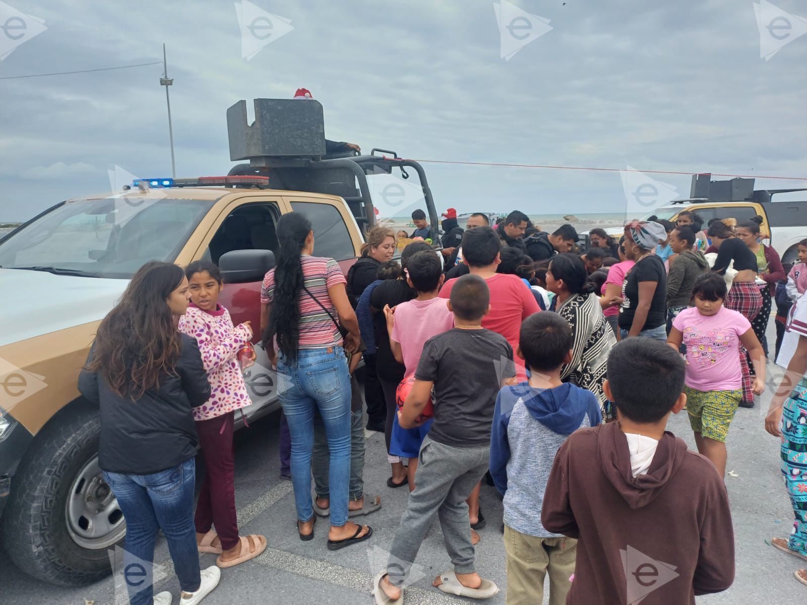
{"type": "Polygon", "coordinates": [[[122,543],[126,524],[97,470],[99,428],[98,411],[84,407],[61,411],[36,436],[11,479],[2,519],[3,544],[19,569],[34,578],[82,586],[111,573],[107,550],[122,543]],[[115,521],[113,531],[90,539],[86,531],[90,526],[94,531],[104,526],[88,519],[100,513],[76,514],[71,522],[68,512],[77,506],[105,507],[115,521]]]}

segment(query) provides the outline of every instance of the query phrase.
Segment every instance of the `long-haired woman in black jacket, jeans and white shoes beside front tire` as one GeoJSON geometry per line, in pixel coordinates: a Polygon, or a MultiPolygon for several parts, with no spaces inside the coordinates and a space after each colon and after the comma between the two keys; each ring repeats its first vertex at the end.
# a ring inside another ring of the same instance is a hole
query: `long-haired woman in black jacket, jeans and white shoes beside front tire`
{"type": "Polygon", "coordinates": [[[194,528],[196,434],[192,407],[210,398],[196,341],[178,332],[190,292],[177,265],[150,262],[95,336],[78,389],[101,411],[98,465],[126,519],[123,574],[132,605],[170,603],[153,595],[157,531],[168,540],[183,605],[199,603],[219,583],[213,565],[199,570],[194,528]],[[144,581],[146,578],[146,581],[144,581]],[[130,583],[131,581],[131,583],[130,583]]]}

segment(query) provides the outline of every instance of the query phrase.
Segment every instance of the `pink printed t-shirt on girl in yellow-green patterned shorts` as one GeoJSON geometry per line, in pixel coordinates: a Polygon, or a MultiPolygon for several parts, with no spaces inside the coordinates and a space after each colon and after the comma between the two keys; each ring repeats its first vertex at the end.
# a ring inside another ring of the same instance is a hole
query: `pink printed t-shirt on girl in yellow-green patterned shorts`
{"type": "Polygon", "coordinates": [[[690,389],[742,388],[740,336],[751,330],[748,319],[725,307],[710,317],[690,307],[678,314],[672,327],[681,331],[687,345],[685,383],[690,389]]]}

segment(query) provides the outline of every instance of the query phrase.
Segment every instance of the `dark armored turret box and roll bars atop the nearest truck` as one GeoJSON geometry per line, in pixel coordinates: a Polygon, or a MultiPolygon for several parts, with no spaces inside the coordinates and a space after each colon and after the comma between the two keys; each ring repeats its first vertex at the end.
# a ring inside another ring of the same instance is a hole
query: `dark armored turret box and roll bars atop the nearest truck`
{"type": "Polygon", "coordinates": [[[230,169],[232,176],[269,177],[274,189],[312,191],[345,199],[356,222],[367,230],[376,223],[367,176],[391,174],[408,168],[420,179],[429,223],[437,231],[439,219],[423,167],[394,151],[373,148],[370,155],[355,152],[328,155],[320,102],[314,99],[257,98],[255,120],[247,120],[246,101],[227,110],[230,159],[249,160],[230,169]]]}

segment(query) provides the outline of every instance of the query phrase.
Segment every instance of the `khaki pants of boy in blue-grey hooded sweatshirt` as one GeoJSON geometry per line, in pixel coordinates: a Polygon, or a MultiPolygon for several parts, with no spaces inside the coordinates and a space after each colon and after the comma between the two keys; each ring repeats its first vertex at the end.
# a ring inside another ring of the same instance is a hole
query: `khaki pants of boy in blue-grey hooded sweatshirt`
{"type": "Polygon", "coordinates": [[[507,553],[507,605],[544,602],[544,578],[550,574],[550,605],[564,605],[575,573],[577,540],[537,538],[504,526],[507,553]]]}

